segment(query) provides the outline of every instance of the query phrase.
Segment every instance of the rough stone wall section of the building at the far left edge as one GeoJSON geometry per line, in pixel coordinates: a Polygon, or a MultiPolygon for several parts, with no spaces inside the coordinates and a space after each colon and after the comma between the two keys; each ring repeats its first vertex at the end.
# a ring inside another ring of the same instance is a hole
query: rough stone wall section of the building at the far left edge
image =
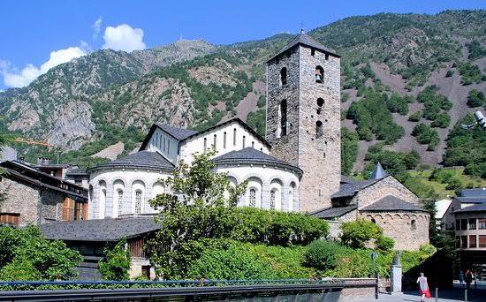
{"type": "Polygon", "coordinates": [[[0,180],[0,192],[5,194],[4,201],[0,201],[0,212],[19,213],[20,226],[37,223],[39,204],[37,189],[4,177],[0,180]]]}

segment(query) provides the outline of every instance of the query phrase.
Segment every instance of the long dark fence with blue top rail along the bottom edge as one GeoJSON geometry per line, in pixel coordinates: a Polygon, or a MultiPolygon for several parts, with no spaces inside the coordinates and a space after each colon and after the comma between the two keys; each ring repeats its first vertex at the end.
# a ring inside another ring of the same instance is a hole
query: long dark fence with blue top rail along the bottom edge
{"type": "Polygon", "coordinates": [[[0,282],[10,289],[0,291],[0,301],[338,301],[347,289],[374,292],[376,286],[376,279],[0,282]]]}

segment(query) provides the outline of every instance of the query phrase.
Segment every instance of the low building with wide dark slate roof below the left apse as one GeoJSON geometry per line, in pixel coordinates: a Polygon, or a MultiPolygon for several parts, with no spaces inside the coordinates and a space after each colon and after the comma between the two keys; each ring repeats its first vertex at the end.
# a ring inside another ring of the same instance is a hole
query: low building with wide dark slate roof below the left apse
{"type": "Polygon", "coordinates": [[[159,229],[160,225],[153,217],[93,219],[41,225],[45,238],[64,240],[66,245],[83,256],[84,261],[77,268],[80,280],[100,280],[98,261],[103,259],[105,248],[116,245],[121,238],[126,239],[126,248],[132,258],[130,277],[155,278],[154,268],[145,255],[143,245],[159,229]]]}

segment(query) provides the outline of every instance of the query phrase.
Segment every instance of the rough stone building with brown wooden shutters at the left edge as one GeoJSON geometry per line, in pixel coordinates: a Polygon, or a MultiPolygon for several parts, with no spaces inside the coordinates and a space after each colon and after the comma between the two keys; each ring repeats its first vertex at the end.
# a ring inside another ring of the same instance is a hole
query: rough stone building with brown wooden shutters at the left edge
{"type": "Polygon", "coordinates": [[[26,226],[87,219],[87,190],[25,162],[0,163],[0,223],[26,226]]]}

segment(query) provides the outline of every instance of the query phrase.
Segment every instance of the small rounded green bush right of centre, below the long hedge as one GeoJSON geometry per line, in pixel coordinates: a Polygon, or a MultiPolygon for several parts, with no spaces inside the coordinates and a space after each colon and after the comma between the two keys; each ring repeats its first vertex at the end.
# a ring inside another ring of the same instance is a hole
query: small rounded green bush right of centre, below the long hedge
{"type": "Polygon", "coordinates": [[[346,252],[346,247],[334,241],[315,240],[308,245],[304,259],[307,266],[318,269],[336,267],[338,255],[346,252]]]}

